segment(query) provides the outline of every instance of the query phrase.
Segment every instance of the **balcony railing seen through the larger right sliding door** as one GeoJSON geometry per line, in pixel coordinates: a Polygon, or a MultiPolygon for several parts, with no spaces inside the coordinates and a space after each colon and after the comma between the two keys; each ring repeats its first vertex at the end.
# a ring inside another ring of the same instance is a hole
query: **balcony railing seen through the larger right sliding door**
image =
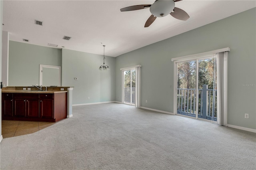
{"type": "MultiPolygon", "coordinates": [[[[196,117],[196,89],[177,90],[177,113],[196,117]]],[[[208,89],[208,85],[203,85],[203,89],[198,89],[198,95],[198,117],[217,121],[217,90],[208,89]]]]}

